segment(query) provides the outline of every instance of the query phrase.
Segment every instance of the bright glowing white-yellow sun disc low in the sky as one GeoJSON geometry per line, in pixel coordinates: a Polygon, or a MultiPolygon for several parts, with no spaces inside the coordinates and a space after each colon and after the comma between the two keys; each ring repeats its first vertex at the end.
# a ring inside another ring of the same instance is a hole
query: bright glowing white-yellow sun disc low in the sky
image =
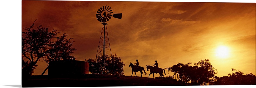
{"type": "Polygon", "coordinates": [[[219,46],[216,49],[216,56],[219,58],[229,57],[229,48],[227,46],[219,46]]]}

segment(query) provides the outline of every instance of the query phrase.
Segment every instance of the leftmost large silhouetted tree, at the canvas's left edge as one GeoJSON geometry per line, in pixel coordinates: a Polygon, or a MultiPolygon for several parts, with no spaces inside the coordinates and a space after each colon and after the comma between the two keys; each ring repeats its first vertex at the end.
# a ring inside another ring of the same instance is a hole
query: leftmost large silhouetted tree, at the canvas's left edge
{"type": "MultiPolygon", "coordinates": [[[[35,21],[34,21],[35,23],[35,21]]],[[[48,52],[51,39],[57,35],[56,30],[48,31],[48,28],[43,28],[41,25],[33,29],[35,24],[29,28],[25,27],[26,32],[22,32],[22,75],[31,75],[37,66],[36,63],[44,58],[48,52]],[[28,74],[27,74],[28,73],[28,74]]]]}

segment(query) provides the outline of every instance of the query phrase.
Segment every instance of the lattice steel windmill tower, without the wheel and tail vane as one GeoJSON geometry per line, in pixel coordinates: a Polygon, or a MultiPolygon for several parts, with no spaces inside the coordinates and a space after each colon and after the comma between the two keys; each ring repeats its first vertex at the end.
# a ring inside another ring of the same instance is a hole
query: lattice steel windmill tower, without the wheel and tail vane
{"type": "Polygon", "coordinates": [[[100,37],[95,61],[97,61],[97,59],[104,60],[103,72],[105,74],[105,60],[110,58],[112,56],[112,54],[111,54],[111,48],[110,48],[110,43],[109,43],[109,38],[108,38],[108,31],[107,31],[107,27],[106,27],[107,23],[104,22],[102,24],[103,24],[103,27],[102,27],[102,31],[101,31],[101,37],[100,37]]]}

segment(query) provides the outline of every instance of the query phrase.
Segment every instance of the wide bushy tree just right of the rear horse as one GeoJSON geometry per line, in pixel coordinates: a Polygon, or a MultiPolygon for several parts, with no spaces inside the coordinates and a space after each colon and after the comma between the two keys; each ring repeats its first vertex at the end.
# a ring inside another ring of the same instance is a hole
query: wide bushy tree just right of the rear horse
{"type": "Polygon", "coordinates": [[[187,64],[178,63],[172,67],[165,68],[168,71],[177,73],[177,79],[184,83],[191,83],[193,85],[207,85],[214,81],[217,69],[215,69],[209,59],[200,60],[195,63],[195,66],[190,66],[192,63],[187,64]]]}

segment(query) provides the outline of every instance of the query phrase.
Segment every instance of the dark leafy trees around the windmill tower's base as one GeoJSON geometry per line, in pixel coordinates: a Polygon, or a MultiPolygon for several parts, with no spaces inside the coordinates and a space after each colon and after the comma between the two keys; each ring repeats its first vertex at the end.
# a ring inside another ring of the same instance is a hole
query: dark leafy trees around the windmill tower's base
{"type": "Polygon", "coordinates": [[[123,67],[124,62],[121,62],[121,58],[116,54],[112,55],[111,58],[105,58],[105,70],[104,70],[104,58],[103,56],[97,58],[97,61],[89,58],[85,59],[89,63],[89,71],[92,74],[110,74],[110,75],[124,75],[123,67]],[[105,71],[105,72],[104,72],[105,71]]]}

